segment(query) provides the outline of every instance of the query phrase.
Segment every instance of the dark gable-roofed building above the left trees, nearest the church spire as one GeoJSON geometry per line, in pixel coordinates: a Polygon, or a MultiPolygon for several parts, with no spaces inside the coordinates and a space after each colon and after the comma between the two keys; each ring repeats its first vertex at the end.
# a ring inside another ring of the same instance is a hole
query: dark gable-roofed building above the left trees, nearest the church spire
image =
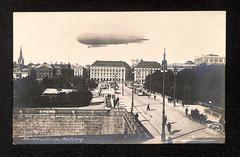
{"type": "Polygon", "coordinates": [[[34,68],[36,72],[36,79],[42,81],[45,77],[53,77],[53,67],[47,63],[40,64],[34,68]]]}

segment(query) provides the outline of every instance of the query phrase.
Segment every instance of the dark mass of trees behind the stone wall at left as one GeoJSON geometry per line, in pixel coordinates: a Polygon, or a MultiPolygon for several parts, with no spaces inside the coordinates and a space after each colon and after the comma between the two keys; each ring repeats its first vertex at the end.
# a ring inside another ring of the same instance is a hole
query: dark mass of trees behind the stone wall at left
{"type": "Polygon", "coordinates": [[[54,78],[44,78],[38,82],[35,76],[14,80],[14,107],[74,107],[87,106],[92,99],[90,90],[97,87],[94,80],[74,77],[72,71],[54,78]],[[61,93],[50,97],[42,96],[46,88],[77,89],[69,94],[61,93]]]}

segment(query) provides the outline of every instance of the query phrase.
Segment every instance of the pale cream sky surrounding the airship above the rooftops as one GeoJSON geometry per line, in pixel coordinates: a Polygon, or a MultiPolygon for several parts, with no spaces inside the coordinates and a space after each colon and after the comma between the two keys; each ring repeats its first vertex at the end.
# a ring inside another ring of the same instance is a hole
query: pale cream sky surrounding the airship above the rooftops
{"type": "Polygon", "coordinates": [[[78,63],[131,59],[161,62],[166,48],[168,63],[194,61],[196,56],[225,57],[226,12],[14,12],[13,60],[22,45],[25,64],[78,63]],[[91,47],[81,44],[82,34],[141,36],[142,43],[91,47]]]}

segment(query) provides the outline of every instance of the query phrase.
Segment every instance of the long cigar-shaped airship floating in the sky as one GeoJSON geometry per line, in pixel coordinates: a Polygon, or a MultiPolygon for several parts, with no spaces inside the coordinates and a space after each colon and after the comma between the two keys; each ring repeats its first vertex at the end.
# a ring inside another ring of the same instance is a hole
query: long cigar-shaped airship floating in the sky
{"type": "Polygon", "coordinates": [[[85,34],[79,35],[77,41],[81,44],[91,47],[104,47],[107,45],[129,44],[129,43],[142,43],[149,40],[140,36],[133,35],[113,35],[113,34],[85,34]]]}

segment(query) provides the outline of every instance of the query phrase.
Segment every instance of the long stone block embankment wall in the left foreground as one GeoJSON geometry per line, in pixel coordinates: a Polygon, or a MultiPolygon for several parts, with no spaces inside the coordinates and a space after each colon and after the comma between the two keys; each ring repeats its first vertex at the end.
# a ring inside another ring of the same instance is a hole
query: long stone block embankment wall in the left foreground
{"type": "Polygon", "coordinates": [[[13,137],[136,133],[126,123],[126,114],[125,109],[15,109],[13,137]]]}

